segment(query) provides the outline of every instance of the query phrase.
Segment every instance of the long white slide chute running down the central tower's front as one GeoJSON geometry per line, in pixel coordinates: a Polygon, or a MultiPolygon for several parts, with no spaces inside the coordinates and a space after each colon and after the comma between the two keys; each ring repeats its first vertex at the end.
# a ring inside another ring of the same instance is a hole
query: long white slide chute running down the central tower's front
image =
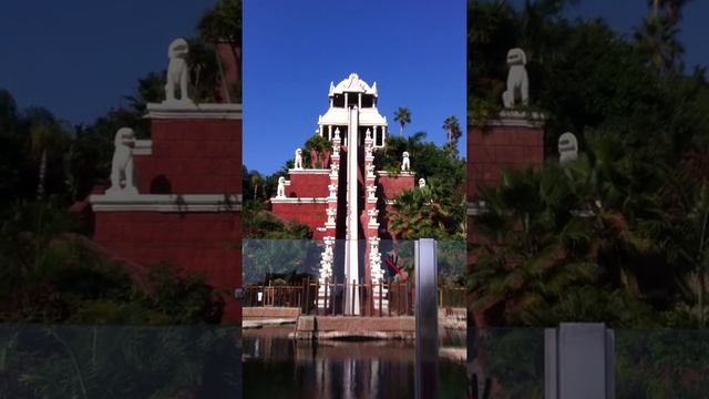
{"type": "MultiPolygon", "coordinates": [[[[359,129],[359,110],[350,110],[349,142],[347,147],[347,249],[345,278],[347,284],[359,284],[359,213],[357,212],[357,130],[359,129]]],[[[345,299],[345,314],[359,315],[359,290],[349,287],[345,299]]]]}

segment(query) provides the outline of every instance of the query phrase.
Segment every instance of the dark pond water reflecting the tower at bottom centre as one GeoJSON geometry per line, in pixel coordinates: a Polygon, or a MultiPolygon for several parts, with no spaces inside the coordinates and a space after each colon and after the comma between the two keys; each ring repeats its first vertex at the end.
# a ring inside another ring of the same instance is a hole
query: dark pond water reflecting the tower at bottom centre
{"type": "MultiPolygon", "coordinates": [[[[244,398],[413,398],[415,350],[407,341],[294,341],[290,328],[244,332],[244,398]]],[[[464,348],[464,331],[441,344],[464,348]]],[[[439,398],[462,398],[465,366],[440,359],[439,398]]]]}

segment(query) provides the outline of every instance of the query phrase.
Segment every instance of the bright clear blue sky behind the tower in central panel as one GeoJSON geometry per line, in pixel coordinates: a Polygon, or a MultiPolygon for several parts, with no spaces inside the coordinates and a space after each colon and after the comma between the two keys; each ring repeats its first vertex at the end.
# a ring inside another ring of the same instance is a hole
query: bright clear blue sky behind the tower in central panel
{"type": "MultiPolygon", "coordinates": [[[[404,134],[445,141],[465,124],[465,0],[245,0],[244,163],[273,173],[328,109],[330,81],[377,81],[378,109],[411,111],[404,134]]],[[[464,140],[463,135],[463,140],[464,140]]],[[[461,142],[461,149],[464,149],[461,142]]],[[[464,153],[464,151],[462,151],[464,153]]]]}

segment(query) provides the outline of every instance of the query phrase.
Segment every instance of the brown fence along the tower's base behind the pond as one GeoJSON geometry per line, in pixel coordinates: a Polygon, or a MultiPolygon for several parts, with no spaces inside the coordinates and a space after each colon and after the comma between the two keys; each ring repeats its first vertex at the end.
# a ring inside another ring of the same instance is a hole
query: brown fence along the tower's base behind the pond
{"type": "MultiPolygon", "coordinates": [[[[354,284],[333,279],[320,284],[304,278],[300,286],[245,286],[244,306],[297,307],[304,315],[341,315],[346,313],[345,293],[353,289],[362,316],[413,316],[414,288],[411,282],[354,284]]],[[[465,307],[465,288],[440,287],[439,307],[465,307]]]]}

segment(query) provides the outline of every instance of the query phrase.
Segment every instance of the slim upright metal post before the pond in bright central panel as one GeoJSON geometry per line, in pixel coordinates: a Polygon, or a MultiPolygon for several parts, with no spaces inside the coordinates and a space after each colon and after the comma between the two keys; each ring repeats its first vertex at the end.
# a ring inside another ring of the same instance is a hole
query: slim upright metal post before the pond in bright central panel
{"type": "Polygon", "coordinates": [[[415,398],[438,398],[439,311],[438,263],[435,241],[415,243],[415,325],[417,376],[415,398]]]}

